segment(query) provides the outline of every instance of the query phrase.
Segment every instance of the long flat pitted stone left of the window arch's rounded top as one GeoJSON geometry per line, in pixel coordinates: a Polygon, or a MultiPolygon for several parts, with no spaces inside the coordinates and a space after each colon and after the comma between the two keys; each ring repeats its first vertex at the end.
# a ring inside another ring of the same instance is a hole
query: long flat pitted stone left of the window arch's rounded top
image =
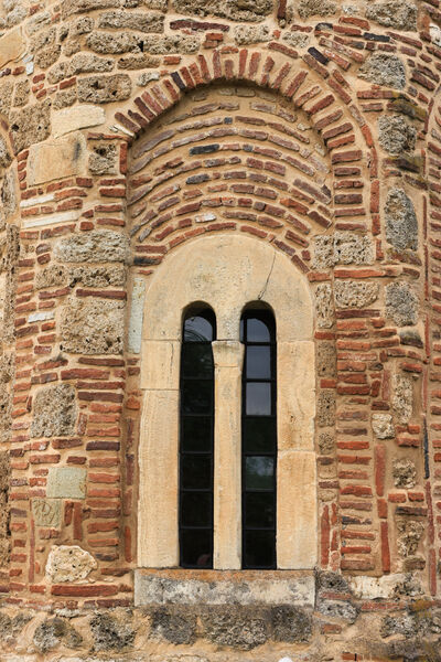
{"type": "Polygon", "coordinates": [[[61,239],[54,255],[62,263],[123,263],[129,258],[129,243],[121,233],[94,229],[61,239]]]}

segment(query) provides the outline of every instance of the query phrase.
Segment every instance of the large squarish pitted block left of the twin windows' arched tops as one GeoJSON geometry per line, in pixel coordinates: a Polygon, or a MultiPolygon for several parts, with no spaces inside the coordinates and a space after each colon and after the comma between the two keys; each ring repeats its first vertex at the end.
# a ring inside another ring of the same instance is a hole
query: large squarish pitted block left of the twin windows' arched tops
{"type": "Polygon", "coordinates": [[[72,300],[62,316],[62,349],[74,354],[120,354],[123,311],[122,301],[72,300]]]}

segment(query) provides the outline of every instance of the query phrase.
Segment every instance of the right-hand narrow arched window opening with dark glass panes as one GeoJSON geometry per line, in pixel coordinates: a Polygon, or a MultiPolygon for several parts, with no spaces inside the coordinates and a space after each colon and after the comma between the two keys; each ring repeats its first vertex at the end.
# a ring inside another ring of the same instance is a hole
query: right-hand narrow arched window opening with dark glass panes
{"type": "Polygon", "coordinates": [[[241,398],[243,568],[276,568],[276,322],[249,307],[240,320],[245,345],[241,398]]]}

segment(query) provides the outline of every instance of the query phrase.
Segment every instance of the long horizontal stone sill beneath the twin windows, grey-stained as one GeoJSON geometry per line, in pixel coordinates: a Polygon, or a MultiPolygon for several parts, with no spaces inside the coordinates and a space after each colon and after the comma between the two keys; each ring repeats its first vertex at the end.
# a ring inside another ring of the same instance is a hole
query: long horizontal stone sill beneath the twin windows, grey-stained
{"type": "Polygon", "coordinates": [[[135,570],[135,604],[154,605],[289,605],[312,607],[314,570],[135,570]]]}

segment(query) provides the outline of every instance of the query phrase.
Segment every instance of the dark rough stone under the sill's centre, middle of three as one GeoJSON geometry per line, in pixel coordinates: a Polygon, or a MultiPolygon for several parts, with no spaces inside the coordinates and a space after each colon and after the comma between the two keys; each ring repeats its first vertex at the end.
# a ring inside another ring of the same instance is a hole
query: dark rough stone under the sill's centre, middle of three
{"type": "Polygon", "coordinates": [[[211,609],[202,617],[202,624],[205,638],[217,645],[248,651],[268,639],[265,619],[234,608],[211,609]]]}

